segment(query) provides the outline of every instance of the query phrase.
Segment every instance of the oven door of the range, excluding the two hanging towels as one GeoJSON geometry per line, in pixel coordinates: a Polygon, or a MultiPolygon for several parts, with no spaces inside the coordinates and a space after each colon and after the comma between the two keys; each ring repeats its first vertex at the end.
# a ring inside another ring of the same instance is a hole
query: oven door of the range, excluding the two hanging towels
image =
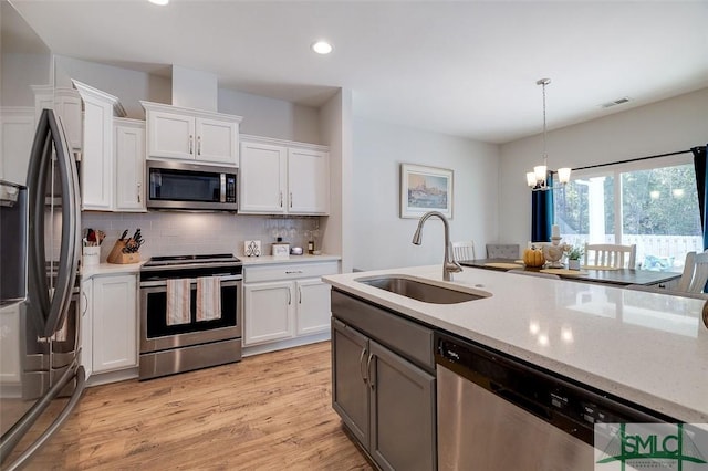
{"type": "Polygon", "coordinates": [[[242,276],[221,276],[221,317],[196,321],[197,280],[191,279],[191,321],[167,324],[167,281],[140,283],[140,354],[241,338],[242,276]]]}

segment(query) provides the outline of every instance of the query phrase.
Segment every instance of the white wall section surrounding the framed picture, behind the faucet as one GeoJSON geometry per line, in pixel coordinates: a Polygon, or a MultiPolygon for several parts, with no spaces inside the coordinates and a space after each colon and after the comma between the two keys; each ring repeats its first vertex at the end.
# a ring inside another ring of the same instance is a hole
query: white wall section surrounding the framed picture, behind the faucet
{"type": "Polygon", "coordinates": [[[479,255],[497,233],[498,146],[354,117],[353,266],[375,270],[442,264],[442,223],[399,218],[400,164],[449,168],[454,175],[452,240],[472,240],[479,255]]]}

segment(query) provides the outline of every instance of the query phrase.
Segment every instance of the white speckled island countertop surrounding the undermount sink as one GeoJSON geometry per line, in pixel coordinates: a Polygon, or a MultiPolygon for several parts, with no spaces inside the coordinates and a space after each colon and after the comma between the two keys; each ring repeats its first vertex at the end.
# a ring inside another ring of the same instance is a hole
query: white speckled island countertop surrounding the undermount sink
{"type": "Polygon", "coordinates": [[[452,284],[492,295],[429,304],[356,282],[441,265],[324,276],[342,291],[690,423],[708,422],[702,300],[465,268],[452,284]]]}

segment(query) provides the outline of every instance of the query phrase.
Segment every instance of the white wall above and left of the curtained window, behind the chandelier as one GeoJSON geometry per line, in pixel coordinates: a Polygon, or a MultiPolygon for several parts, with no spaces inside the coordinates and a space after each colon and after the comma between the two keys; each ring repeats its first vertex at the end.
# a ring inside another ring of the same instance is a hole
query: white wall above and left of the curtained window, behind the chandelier
{"type": "MultiPolygon", "coordinates": [[[[548,134],[549,167],[584,167],[706,145],[708,88],[616,113],[548,134]]],[[[543,140],[531,136],[501,146],[499,239],[525,245],[531,237],[531,191],[525,172],[541,164],[543,140]]]]}

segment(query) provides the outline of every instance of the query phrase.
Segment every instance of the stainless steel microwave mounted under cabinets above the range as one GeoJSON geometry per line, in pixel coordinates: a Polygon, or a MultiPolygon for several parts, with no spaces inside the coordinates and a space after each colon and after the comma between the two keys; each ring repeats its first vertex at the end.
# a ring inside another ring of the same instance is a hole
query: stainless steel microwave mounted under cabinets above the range
{"type": "Polygon", "coordinates": [[[237,168],[147,160],[147,208],[236,211],[237,168]]]}

